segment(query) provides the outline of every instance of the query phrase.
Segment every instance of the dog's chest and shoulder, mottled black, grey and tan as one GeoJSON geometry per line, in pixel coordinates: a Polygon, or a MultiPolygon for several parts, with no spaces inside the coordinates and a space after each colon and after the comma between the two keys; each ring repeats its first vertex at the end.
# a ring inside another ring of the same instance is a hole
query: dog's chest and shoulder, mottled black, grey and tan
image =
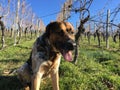
{"type": "Polygon", "coordinates": [[[60,53],[51,51],[50,46],[41,37],[37,39],[32,50],[32,66],[33,72],[41,72],[48,74],[52,70],[58,70],[60,64],[60,53]]]}

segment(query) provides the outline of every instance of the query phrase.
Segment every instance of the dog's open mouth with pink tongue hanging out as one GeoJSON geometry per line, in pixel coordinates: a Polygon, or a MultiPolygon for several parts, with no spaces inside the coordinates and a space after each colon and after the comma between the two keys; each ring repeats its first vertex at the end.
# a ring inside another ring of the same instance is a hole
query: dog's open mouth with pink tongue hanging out
{"type": "Polygon", "coordinates": [[[72,61],[73,60],[73,56],[72,56],[72,51],[71,50],[62,50],[61,51],[62,56],[64,57],[65,60],[67,61],[72,61]]]}

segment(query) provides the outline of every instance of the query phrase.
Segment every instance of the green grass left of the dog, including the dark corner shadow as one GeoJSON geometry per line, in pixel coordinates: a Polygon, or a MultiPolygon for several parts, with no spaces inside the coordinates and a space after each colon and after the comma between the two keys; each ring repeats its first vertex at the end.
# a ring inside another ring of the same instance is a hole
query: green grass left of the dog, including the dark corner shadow
{"type": "Polygon", "coordinates": [[[0,90],[22,90],[16,74],[5,72],[19,68],[29,58],[33,42],[23,39],[21,44],[13,46],[13,39],[7,37],[6,47],[0,51],[0,90]]]}

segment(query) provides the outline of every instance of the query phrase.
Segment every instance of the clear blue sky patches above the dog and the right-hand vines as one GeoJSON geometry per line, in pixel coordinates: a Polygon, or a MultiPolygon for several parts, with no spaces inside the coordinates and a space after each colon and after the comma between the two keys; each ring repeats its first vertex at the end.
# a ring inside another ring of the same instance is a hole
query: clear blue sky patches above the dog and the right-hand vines
{"type": "MultiPolygon", "coordinates": [[[[65,0],[27,0],[27,2],[31,4],[34,13],[36,13],[45,25],[47,25],[50,21],[56,20],[57,14],[55,13],[60,11],[65,0]]],[[[98,12],[100,11],[107,13],[107,9],[113,11],[118,4],[120,4],[120,0],[93,0],[93,3],[89,8],[90,15],[98,15],[98,12]]],[[[104,18],[106,18],[106,16],[104,18]]],[[[120,19],[120,12],[117,15],[117,18],[120,19]]],[[[73,12],[68,21],[75,25],[76,22],[79,21],[79,13],[76,14],[73,12]]]]}

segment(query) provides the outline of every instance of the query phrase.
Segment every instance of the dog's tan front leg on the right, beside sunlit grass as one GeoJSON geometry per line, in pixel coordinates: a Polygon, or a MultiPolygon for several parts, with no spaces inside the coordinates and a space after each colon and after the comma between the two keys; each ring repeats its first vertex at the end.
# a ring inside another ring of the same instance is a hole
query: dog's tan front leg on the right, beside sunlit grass
{"type": "Polygon", "coordinates": [[[51,72],[51,79],[52,79],[52,87],[53,90],[59,90],[59,75],[58,70],[51,72]]]}

